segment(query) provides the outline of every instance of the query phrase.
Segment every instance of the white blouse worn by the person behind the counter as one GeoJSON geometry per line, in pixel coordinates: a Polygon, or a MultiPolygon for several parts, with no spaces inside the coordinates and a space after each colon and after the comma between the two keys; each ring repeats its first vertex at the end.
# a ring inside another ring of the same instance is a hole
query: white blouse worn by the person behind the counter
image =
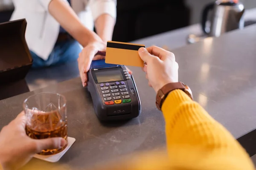
{"type": "MultiPolygon", "coordinates": [[[[13,0],[15,10],[10,19],[26,19],[25,37],[29,49],[44,60],[52,52],[60,29],[59,23],[48,11],[51,1],[13,0]]],[[[84,26],[90,30],[93,30],[94,21],[102,14],[116,18],[116,0],[71,0],[71,5],[84,26]]]]}

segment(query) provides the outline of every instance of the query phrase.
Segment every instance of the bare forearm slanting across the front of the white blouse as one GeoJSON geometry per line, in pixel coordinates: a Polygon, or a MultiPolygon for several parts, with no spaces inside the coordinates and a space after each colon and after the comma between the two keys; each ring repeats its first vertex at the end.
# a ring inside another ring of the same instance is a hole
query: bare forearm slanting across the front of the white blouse
{"type": "Polygon", "coordinates": [[[100,39],[93,31],[83,26],[73,9],[63,0],[52,0],[49,3],[49,13],[82,46],[100,39]]]}

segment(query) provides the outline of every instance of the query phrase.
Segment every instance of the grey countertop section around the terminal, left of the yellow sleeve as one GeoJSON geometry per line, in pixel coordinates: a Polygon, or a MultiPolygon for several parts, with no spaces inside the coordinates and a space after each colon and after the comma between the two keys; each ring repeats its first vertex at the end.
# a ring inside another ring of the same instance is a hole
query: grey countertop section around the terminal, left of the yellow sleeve
{"type": "MultiPolygon", "coordinates": [[[[155,93],[148,87],[141,69],[132,69],[142,102],[142,113],[138,118],[111,125],[101,124],[96,118],[87,88],[82,88],[80,78],[76,78],[1,100],[0,128],[22,111],[22,102],[26,97],[38,92],[54,92],[67,98],[68,136],[76,139],[60,163],[81,168],[135,151],[165,147],[165,124],[154,104],[155,93]],[[139,79],[140,76],[143,79],[139,79]]],[[[33,159],[28,166],[35,163],[45,162],[33,159]]]]}

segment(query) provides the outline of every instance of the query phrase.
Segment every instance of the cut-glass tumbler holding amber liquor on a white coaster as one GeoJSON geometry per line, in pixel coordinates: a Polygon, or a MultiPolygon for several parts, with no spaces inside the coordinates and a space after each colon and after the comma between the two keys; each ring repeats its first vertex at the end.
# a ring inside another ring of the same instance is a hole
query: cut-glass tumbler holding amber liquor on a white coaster
{"type": "MultiPolygon", "coordinates": [[[[40,93],[23,103],[26,115],[26,134],[32,139],[62,137],[67,141],[66,99],[60,94],[40,93]]],[[[61,149],[42,150],[40,155],[53,155],[61,149]]]]}

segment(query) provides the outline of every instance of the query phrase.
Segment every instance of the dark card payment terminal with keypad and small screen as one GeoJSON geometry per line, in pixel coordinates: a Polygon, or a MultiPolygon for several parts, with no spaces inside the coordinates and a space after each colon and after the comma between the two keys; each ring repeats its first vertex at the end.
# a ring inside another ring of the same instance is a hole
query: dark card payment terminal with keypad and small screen
{"type": "Polygon", "coordinates": [[[141,113],[134,78],[124,65],[94,60],[88,71],[88,90],[101,121],[132,119],[141,113]]]}

